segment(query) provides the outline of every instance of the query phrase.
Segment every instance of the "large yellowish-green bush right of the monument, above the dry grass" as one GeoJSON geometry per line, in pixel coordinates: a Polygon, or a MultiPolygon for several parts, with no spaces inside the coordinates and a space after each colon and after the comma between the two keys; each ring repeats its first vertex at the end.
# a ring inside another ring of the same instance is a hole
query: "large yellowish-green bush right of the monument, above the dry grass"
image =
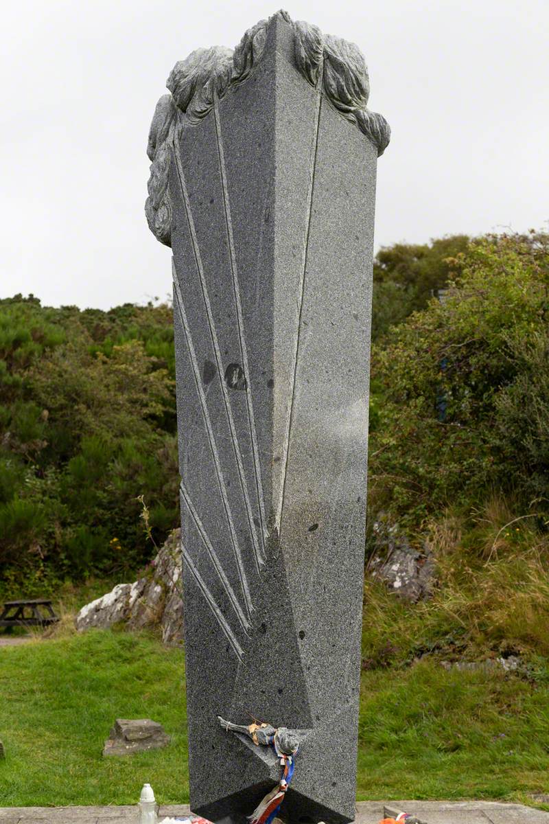
{"type": "Polygon", "coordinates": [[[488,236],[374,349],[370,489],[417,524],[490,489],[549,511],[549,236],[488,236]]]}

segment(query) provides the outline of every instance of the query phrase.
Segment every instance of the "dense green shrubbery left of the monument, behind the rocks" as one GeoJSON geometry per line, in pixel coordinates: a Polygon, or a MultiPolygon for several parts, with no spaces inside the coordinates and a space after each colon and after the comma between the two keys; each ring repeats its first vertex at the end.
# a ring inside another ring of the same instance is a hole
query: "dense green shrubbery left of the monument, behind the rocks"
{"type": "Polygon", "coordinates": [[[0,564],[4,585],[81,578],[147,556],[177,522],[170,307],[109,312],[0,302],[0,564]]]}

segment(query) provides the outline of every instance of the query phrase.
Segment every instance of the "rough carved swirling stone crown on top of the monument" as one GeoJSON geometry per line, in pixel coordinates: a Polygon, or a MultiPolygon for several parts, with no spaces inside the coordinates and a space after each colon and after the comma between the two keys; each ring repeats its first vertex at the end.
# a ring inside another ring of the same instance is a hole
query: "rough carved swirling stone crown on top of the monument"
{"type": "MultiPolygon", "coordinates": [[[[295,65],[314,87],[321,88],[328,101],[377,147],[382,155],[391,130],[383,115],[366,109],[370,95],[368,69],[361,50],[347,40],[323,35],[317,26],[294,22],[286,12],[277,12],[292,28],[295,65]]],[[[271,18],[272,19],[272,18],[271,18]]],[[[156,105],[147,154],[151,159],[149,196],[145,213],[151,232],[171,246],[171,206],[168,171],[171,149],[184,124],[197,124],[212,109],[214,98],[249,76],[261,59],[267,39],[268,21],[249,29],[234,51],[224,46],[197,49],[179,60],[168,77],[171,95],[156,105]]]]}

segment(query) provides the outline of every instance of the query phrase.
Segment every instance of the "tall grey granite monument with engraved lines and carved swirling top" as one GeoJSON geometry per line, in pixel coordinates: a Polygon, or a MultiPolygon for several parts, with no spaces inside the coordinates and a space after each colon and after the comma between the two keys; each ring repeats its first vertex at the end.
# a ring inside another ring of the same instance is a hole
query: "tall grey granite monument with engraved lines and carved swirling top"
{"type": "Polygon", "coordinates": [[[238,731],[265,722],[300,740],[281,817],[349,822],[388,124],[360,50],[286,12],[167,87],[146,212],[173,253],[191,808],[244,822],[277,787],[238,731]]]}

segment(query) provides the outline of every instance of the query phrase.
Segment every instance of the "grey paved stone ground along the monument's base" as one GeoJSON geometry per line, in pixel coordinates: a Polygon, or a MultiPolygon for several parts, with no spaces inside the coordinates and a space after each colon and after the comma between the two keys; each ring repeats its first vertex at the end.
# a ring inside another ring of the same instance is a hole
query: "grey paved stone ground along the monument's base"
{"type": "MultiPolygon", "coordinates": [[[[489,801],[395,801],[392,808],[413,812],[427,824],[549,824],[549,812],[489,801]]],[[[378,824],[383,803],[357,804],[357,824],[378,824]]],[[[160,819],[188,814],[188,806],[161,807],[160,819]]],[[[137,807],[0,808],[0,824],[138,824],[137,807]]]]}

